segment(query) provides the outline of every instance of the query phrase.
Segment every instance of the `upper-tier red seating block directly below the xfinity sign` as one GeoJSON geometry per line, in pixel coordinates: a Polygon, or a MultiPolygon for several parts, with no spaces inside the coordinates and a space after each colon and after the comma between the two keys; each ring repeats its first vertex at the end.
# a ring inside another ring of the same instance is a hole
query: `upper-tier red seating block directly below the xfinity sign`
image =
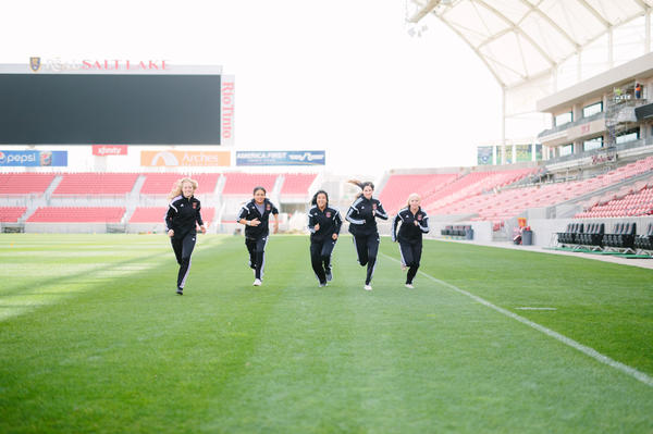
{"type": "Polygon", "coordinates": [[[136,173],[66,173],[52,196],[126,195],[137,178],[136,173]]]}

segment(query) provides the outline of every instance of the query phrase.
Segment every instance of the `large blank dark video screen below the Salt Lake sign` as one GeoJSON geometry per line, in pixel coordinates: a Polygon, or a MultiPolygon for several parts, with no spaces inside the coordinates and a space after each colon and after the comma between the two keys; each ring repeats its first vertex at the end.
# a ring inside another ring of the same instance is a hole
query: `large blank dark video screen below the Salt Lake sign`
{"type": "Polygon", "coordinates": [[[0,74],[0,144],[220,145],[220,75],[0,74]]]}

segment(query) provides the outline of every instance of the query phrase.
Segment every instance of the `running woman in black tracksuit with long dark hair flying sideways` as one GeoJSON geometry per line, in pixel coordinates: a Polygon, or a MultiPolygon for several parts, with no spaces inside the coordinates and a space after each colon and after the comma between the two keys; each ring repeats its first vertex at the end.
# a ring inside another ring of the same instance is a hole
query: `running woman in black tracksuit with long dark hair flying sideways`
{"type": "Polygon", "coordinates": [[[377,230],[377,218],[387,220],[387,214],[378,199],[372,198],[374,184],[349,181],[362,189],[354,203],[347,211],[346,220],[349,222],[349,232],[354,235],[354,245],[358,253],[358,263],[361,266],[367,265],[367,276],[365,278],[365,290],[372,290],[370,283],[374,275],[377,265],[377,253],[379,252],[379,231],[377,230]]]}

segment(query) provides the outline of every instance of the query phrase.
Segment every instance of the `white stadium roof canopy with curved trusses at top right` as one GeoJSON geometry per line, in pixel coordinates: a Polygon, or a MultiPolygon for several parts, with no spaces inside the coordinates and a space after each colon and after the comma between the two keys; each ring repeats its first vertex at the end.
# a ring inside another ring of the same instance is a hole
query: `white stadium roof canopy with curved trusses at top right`
{"type": "Polygon", "coordinates": [[[571,72],[579,82],[643,55],[651,47],[653,0],[411,1],[416,10],[409,22],[434,14],[469,44],[504,89],[553,76],[550,91],[557,90],[559,66],[571,59],[579,65],[571,72]],[[613,30],[638,17],[636,29],[619,35],[638,50],[632,55],[615,53],[613,30]],[[604,52],[595,55],[594,48],[604,52]],[[586,63],[603,64],[581,73],[581,54],[586,63]]]}

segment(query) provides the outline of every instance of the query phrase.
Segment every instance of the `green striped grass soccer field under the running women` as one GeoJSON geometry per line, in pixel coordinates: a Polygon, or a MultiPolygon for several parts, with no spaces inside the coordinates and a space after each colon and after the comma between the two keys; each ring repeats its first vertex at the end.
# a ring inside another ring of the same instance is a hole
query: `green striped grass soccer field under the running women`
{"type": "Polygon", "coordinates": [[[352,238],[0,236],[2,433],[652,433],[653,271],[426,241],[416,288],[352,238]],[[526,309],[525,309],[526,308],[526,309]],[[594,352],[592,352],[594,351],[594,352]]]}

